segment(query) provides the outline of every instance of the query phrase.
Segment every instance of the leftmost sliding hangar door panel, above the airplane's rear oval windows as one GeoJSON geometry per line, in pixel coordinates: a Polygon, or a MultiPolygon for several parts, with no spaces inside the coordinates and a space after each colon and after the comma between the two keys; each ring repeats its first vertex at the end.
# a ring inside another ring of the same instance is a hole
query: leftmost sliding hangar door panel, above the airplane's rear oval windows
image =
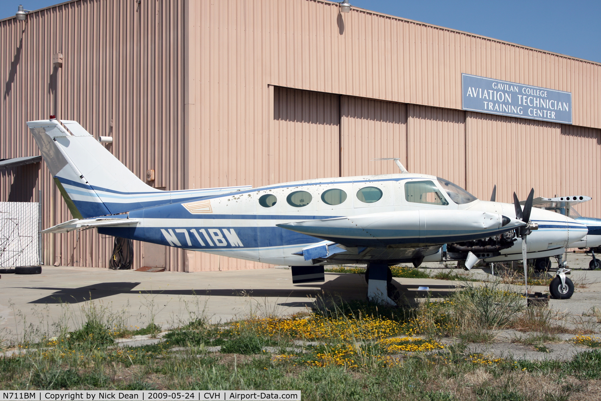
{"type": "Polygon", "coordinates": [[[338,177],[340,96],[273,88],[269,183],[338,177]]]}

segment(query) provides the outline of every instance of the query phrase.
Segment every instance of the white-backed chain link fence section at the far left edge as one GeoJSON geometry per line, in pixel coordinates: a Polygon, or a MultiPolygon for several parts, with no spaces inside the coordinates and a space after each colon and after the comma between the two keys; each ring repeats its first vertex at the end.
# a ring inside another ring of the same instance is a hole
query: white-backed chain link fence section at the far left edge
{"type": "Polygon", "coordinates": [[[0,202],[0,268],[41,265],[40,204],[0,202]]]}

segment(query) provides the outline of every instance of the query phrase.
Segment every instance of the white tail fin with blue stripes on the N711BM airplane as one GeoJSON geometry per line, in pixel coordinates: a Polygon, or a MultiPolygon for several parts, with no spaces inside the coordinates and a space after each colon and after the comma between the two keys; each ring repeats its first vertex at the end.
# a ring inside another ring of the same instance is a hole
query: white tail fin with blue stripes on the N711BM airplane
{"type": "Polygon", "coordinates": [[[28,121],[73,217],[129,212],[249,187],[160,191],[142,182],[76,121],[28,121]]]}

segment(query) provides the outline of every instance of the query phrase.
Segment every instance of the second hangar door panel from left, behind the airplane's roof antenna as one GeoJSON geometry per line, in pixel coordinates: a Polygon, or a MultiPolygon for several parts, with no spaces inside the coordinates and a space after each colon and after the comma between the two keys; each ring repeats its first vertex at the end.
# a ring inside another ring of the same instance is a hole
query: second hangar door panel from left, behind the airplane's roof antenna
{"type": "Polygon", "coordinates": [[[340,175],[398,174],[407,162],[407,105],[341,96],[340,175]]]}

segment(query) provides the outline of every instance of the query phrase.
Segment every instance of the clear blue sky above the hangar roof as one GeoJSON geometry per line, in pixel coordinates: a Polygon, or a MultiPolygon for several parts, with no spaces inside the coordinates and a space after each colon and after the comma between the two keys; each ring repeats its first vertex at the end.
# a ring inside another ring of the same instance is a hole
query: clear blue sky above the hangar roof
{"type": "MultiPolygon", "coordinates": [[[[28,10],[58,4],[0,0],[0,19],[14,15],[20,3],[28,10]]],[[[601,63],[601,0],[350,0],[350,4],[601,63]]]]}

